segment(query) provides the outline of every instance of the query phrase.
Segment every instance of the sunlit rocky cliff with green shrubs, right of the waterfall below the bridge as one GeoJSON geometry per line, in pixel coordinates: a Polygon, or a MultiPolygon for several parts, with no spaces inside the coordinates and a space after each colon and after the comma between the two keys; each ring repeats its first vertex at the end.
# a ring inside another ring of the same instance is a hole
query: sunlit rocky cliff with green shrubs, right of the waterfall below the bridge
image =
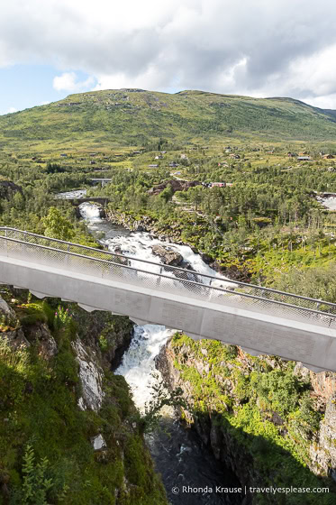
{"type": "MultiPolygon", "coordinates": [[[[162,348],[157,367],[169,388],[184,391],[189,409],[182,417],[248,489],[326,486],[319,502],[336,498],[335,373],[182,334],[162,348]]],[[[292,493],[283,501],[279,494],[250,492],[248,500],[308,505],[317,496],[303,501],[292,493]]]]}

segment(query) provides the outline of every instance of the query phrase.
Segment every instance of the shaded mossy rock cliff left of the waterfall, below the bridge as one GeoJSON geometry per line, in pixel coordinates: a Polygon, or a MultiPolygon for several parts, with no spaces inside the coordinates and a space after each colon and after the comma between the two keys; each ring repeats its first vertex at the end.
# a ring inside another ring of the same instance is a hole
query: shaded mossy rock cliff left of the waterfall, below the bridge
{"type": "Polygon", "coordinates": [[[0,505],[166,505],[128,385],[110,371],[132,323],[2,296],[0,505]]]}

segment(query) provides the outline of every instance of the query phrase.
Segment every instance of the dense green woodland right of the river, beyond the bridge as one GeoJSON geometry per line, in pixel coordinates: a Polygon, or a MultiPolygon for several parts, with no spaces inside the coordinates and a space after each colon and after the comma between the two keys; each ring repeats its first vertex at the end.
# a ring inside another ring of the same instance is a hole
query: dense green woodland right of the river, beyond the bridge
{"type": "MultiPolygon", "coordinates": [[[[156,232],[195,246],[224,271],[233,269],[242,278],[276,286],[295,268],[332,270],[336,217],[323,211],[312,195],[314,188],[336,192],[333,172],[314,166],[284,172],[271,165],[243,172],[224,169],[220,175],[213,164],[209,161],[198,179],[230,179],[233,186],[189,188],[180,192],[183,206],[172,199],[170,186],[150,196],[159,174],[141,170],[115,169],[112,182],[91,193],[99,196],[104,191],[111,211],[123,213],[131,224],[149,216],[156,232]]],[[[311,283],[307,289],[312,290],[311,283]]]]}

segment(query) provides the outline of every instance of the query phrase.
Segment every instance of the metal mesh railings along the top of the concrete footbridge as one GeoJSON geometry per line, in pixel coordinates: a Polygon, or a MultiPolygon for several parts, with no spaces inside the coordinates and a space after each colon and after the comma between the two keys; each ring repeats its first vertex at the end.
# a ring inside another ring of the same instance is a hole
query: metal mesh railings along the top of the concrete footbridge
{"type": "MultiPolygon", "coordinates": [[[[139,287],[336,328],[336,304],[0,227],[0,255],[139,287]]],[[[46,269],[47,270],[47,269],[46,269]]]]}

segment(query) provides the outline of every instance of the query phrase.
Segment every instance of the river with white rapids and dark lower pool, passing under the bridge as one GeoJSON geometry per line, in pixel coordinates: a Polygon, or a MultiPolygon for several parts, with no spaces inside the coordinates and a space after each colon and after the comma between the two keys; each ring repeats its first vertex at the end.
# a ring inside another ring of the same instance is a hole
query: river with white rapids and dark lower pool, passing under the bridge
{"type": "MultiPolygon", "coordinates": [[[[122,226],[113,225],[100,217],[99,207],[94,204],[83,203],[79,210],[89,231],[110,251],[156,262],[159,269],[159,256],[152,253],[151,249],[154,244],[159,243],[180,253],[195,271],[216,274],[203,262],[199,254],[193,253],[186,245],[163,243],[152,238],[150,234],[131,233],[122,226]]],[[[135,259],[131,264],[138,266],[135,259]]],[[[123,375],[129,383],[134,403],[141,411],[152,398],[152,387],[162,380],[155,369],[155,358],[173,333],[173,329],[165,326],[134,326],[132,343],[123,355],[123,362],[115,370],[115,373],[123,375]]],[[[239,487],[240,484],[232,472],[214,459],[207,447],[201,445],[199,437],[192,429],[182,426],[174,409],[167,408],[162,415],[160,429],[146,436],[146,442],[156,468],[162,475],[170,504],[240,504],[240,495],[214,492],[216,486],[239,487]],[[204,491],[184,492],[183,486],[203,488],[204,491]]]]}

